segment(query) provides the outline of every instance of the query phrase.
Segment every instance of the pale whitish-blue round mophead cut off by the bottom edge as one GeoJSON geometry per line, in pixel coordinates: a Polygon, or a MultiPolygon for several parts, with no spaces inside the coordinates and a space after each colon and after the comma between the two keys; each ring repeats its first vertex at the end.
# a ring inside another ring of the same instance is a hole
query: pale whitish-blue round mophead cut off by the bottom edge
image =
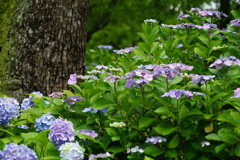
{"type": "Polygon", "coordinates": [[[59,147],[61,160],[82,160],[83,151],[79,143],[66,142],[59,147]]]}

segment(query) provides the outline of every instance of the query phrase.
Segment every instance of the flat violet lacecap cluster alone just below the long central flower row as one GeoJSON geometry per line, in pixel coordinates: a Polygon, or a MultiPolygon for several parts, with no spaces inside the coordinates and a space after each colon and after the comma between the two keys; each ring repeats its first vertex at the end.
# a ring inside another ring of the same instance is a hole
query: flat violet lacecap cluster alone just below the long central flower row
{"type": "Polygon", "coordinates": [[[170,90],[169,92],[164,93],[162,95],[162,97],[171,97],[171,98],[179,99],[179,98],[181,98],[182,95],[186,95],[187,97],[190,97],[190,98],[193,97],[192,92],[186,91],[186,90],[183,90],[183,89],[170,90]]]}

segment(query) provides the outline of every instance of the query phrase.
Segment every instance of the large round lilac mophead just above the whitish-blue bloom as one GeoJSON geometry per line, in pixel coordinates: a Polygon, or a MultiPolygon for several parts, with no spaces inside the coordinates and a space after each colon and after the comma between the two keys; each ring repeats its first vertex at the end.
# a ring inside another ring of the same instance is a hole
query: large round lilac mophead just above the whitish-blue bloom
{"type": "Polygon", "coordinates": [[[75,133],[71,121],[56,119],[50,127],[48,139],[59,148],[66,142],[74,141],[75,133]]]}

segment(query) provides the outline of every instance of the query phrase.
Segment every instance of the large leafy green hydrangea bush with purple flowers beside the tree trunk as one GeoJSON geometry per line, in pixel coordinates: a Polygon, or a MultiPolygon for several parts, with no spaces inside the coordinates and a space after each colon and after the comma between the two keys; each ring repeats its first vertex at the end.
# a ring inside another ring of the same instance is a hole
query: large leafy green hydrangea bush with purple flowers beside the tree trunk
{"type": "Polygon", "coordinates": [[[38,159],[239,159],[240,13],[232,14],[224,30],[216,22],[226,14],[198,8],[178,25],[145,20],[137,47],[99,46],[100,64],[69,75],[72,91],[35,96],[20,111],[1,101],[11,116],[0,155],[13,142],[38,159]]]}

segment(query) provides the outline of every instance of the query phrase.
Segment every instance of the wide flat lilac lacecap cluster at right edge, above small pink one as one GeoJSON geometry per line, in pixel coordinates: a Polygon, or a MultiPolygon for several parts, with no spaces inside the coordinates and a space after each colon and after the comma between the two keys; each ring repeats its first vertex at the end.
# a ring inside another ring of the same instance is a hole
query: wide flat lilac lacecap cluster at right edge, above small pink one
{"type": "Polygon", "coordinates": [[[240,60],[234,56],[222,57],[213,62],[210,67],[216,67],[217,70],[221,69],[224,66],[231,66],[232,64],[240,66],[240,60]]]}

